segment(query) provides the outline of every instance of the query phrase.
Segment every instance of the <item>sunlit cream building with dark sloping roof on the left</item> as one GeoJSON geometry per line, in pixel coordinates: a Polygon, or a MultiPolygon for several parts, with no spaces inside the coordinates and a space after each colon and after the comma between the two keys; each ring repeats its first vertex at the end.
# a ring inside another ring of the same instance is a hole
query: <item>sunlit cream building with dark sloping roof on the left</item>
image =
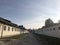
{"type": "Polygon", "coordinates": [[[20,34],[20,28],[17,24],[0,17],[0,37],[8,37],[20,34]]]}

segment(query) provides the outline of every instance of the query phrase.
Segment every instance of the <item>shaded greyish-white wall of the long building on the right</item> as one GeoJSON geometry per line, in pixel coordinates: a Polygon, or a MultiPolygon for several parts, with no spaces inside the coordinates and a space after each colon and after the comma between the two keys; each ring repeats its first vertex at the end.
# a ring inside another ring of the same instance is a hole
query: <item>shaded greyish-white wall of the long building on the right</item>
{"type": "Polygon", "coordinates": [[[60,27],[60,24],[55,25],[55,26],[51,26],[51,27],[47,27],[47,28],[43,29],[43,32],[42,32],[42,30],[41,31],[39,30],[37,33],[60,38],[60,30],[58,29],[58,27],[60,27]],[[50,28],[52,30],[50,30],[50,28]],[[53,30],[53,28],[55,28],[55,30],[53,30]]]}

